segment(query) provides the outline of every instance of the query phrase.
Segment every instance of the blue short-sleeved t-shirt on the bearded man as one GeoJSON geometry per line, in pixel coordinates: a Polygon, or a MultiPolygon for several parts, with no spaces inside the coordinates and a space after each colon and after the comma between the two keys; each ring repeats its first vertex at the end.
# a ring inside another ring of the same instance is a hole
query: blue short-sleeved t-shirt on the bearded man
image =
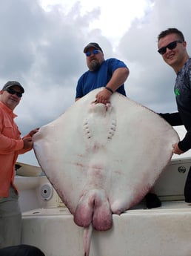
{"type": "MultiPolygon", "coordinates": [[[[81,98],[96,88],[105,87],[110,81],[113,72],[118,68],[127,68],[127,66],[124,64],[124,62],[111,58],[105,60],[98,70],[88,70],[85,72],[80,77],[80,79],[78,79],[78,84],[76,87],[76,98],[81,98]]],[[[124,85],[121,85],[117,89],[117,92],[126,96],[124,85]]]]}

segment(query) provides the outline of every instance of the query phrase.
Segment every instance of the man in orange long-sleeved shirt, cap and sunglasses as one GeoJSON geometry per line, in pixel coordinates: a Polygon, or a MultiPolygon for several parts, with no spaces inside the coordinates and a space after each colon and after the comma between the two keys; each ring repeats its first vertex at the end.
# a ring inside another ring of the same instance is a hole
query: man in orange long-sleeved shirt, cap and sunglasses
{"type": "Polygon", "coordinates": [[[21,211],[14,185],[15,164],[19,154],[33,148],[32,137],[38,128],[21,138],[13,110],[21,101],[24,88],[9,81],[0,91],[0,248],[21,243],[21,211]]]}

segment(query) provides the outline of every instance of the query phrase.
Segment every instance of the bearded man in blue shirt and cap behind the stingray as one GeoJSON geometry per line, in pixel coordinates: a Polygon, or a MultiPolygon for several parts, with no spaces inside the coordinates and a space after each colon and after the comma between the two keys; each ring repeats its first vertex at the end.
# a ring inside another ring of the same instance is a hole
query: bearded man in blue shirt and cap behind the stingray
{"type": "Polygon", "coordinates": [[[103,50],[96,42],[84,47],[84,53],[89,70],[78,79],[76,100],[100,87],[104,90],[96,95],[98,103],[107,104],[115,91],[126,96],[124,82],[130,71],[124,62],[114,58],[105,60],[103,50]]]}

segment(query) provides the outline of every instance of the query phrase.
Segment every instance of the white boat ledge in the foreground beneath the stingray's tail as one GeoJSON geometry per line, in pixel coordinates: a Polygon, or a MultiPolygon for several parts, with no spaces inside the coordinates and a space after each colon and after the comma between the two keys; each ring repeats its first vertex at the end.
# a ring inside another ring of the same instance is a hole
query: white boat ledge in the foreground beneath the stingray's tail
{"type": "MultiPolygon", "coordinates": [[[[93,231],[90,256],[190,256],[191,205],[162,203],[158,209],[113,214],[113,228],[93,231]]],[[[67,209],[35,209],[23,214],[23,243],[46,256],[82,256],[83,228],[67,209]]]]}

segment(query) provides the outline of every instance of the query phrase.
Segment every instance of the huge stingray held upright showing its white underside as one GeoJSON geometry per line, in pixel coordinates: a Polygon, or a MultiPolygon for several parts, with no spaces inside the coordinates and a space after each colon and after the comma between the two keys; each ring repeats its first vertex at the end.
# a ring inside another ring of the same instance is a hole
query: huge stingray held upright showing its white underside
{"type": "Polygon", "coordinates": [[[172,157],[178,134],[150,109],[113,93],[95,102],[102,88],[75,102],[34,135],[34,151],[50,183],[84,227],[84,255],[91,230],[113,226],[150,191],[172,157]]]}

